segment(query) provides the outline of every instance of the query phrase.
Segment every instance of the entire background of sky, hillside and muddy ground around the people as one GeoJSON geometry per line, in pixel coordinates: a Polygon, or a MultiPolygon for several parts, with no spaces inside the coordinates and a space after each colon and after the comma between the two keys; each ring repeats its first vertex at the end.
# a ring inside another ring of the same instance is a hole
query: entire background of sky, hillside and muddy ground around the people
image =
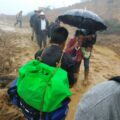
{"type": "MultiPolygon", "coordinates": [[[[78,102],[88,89],[120,75],[120,0],[0,0],[0,120],[25,120],[21,111],[8,103],[6,93],[11,81],[18,77],[19,68],[33,59],[39,49],[36,39],[31,40],[29,24],[30,16],[38,8],[44,10],[49,22],[67,10],[87,9],[98,14],[108,27],[106,31],[97,32],[88,87],[80,83],[84,78],[82,63],[78,79],[80,91],[71,97],[66,120],[73,120],[78,102]],[[20,10],[23,11],[23,28],[14,26],[20,10]]],[[[68,40],[73,37],[77,28],[62,23],[61,26],[69,31],[68,40]]]]}

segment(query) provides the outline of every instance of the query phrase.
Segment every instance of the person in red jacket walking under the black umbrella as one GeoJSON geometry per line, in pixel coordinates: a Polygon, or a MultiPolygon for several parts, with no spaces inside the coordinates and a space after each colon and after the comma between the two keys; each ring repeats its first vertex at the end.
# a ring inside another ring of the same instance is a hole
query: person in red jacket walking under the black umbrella
{"type": "MultiPolygon", "coordinates": [[[[80,30],[76,30],[75,35],[71,38],[66,46],[65,52],[71,55],[74,63],[75,63],[75,71],[76,71],[76,78],[78,78],[80,65],[83,59],[83,54],[81,51],[82,41],[85,39],[86,33],[80,30]]],[[[75,84],[75,90],[79,90],[79,85],[75,84]]]]}

